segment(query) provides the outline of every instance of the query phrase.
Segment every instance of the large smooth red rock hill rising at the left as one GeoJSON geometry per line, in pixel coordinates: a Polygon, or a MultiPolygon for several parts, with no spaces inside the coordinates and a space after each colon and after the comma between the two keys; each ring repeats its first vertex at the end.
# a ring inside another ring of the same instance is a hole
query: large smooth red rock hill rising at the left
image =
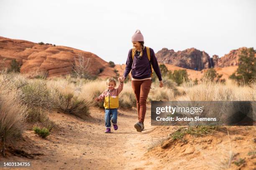
{"type": "Polygon", "coordinates": [[[9,67],[11,60],[16,59],[21,65],[21,73],[39,70],[47,71],[48,77],[65,75],[72,71],[74,59],[79,55],[86,61],[89,59],[90,74],[98,75],[103,68],[100,77],[115,76],[114,68],[109,67],[108,62],[91,52],[0,37],[0,63],[5,59],[4,66],[9,67]]]}

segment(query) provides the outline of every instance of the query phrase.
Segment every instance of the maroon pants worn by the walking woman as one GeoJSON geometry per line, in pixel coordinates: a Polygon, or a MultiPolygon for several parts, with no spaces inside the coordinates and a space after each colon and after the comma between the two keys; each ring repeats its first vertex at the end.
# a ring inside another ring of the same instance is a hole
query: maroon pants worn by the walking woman
{"type": "Polygon", "coordinates": [[[151,80],[132,80],[132,88],[137,101],[138,120],[142,123],[146,115],[146,101],[150,87],[151,80]]]}

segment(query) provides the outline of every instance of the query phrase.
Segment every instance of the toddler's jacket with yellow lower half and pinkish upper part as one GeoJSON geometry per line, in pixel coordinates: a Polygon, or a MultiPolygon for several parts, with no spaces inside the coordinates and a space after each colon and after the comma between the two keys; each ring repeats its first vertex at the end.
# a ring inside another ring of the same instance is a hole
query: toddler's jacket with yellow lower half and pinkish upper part
{"type": "Polygon", "coordinates": [[[119,107],[118,95],[123,90],[123,82],[120,82],[118,88],[113,90],[105,90],[101,93],[100,101],[104,100],[105,109],[115,109],[119,107]]]}

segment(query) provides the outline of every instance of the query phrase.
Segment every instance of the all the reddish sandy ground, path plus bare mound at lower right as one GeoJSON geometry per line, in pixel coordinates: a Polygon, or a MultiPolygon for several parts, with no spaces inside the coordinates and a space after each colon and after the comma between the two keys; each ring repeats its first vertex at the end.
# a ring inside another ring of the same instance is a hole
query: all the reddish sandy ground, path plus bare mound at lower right
{"type": "Polygon", "coordinates": [[[28,125],[23,140],[13,145],[24,153],[13,154],[8,149],[7,157],[0,157],[0,162],[30,161],[33,168],[28,169],[35,170],[212,170],[226,165],[226,155],[232,151],[235,156],[229,170],[256,168],[254,126],[226,127],[202,137],[186,135],[187,142],[182,142],[164,140],[179,127],[151,126],[150,105],[142,133],[133,128],[138,119],[134,108],[118,110],[119,128],[110,134],[104,133],[104,110],[96,107],[91,108],[86,120],[57,112],[49,116],[57,128],[46,139],[33,133],[32,125],[28,125]],[[245,162],[236,166],[233,162],[239,158],[245,162]]]}

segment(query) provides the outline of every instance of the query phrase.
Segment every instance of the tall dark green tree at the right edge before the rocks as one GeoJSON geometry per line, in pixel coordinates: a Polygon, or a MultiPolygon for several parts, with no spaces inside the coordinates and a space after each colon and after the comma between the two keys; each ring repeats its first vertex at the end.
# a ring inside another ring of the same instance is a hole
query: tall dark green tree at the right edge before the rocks
{"type": "Polygon", "coordinates": [[[256,51],[251,48],[243,49],[238,59],[238,69],[230,79],[236,80],[239,84],[248,84],[256,80],[256,51]]]}

